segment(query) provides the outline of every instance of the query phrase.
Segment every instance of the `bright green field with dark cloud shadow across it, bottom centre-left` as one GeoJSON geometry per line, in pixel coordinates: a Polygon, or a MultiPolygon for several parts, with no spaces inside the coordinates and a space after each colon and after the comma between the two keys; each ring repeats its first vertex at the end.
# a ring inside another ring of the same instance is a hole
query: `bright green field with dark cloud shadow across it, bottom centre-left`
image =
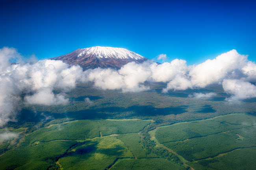
{"type": "Polygon", "coordinates": [[[65,170],[102,170],[117,158],[134,158],[132,152],[115,136],[95,138],[76,148],[74,154],[58,161],[65,170]]]}

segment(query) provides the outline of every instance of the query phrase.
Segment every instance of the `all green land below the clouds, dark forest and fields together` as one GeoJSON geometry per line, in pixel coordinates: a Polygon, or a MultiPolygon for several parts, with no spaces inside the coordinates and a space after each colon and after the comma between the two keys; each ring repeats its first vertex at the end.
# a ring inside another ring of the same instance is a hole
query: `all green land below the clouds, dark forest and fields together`
{"type": "Polygon", "coordinates": [[[0,129],[17,134],[0,139],[0,170],[255,169],[253,100],[227,103],[221,86],[163,94],[166,84],[146,85],[153,90],[79,85],[66,106],[24,107],[0,129]],[[213,91],[212,99],[188,97],[213,91]]]}

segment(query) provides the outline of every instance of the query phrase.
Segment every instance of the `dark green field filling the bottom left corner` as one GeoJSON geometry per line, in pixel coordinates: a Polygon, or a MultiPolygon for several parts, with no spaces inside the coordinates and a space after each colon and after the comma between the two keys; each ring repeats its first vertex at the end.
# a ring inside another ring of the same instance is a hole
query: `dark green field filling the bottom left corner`
{"type": "Polygon", "coordinates": [[[50,160],[64,154],[76,143],[76,141],[52,141],[19,146],[0,156],[0,170],[46,170],[51,165],[50,160]]]}

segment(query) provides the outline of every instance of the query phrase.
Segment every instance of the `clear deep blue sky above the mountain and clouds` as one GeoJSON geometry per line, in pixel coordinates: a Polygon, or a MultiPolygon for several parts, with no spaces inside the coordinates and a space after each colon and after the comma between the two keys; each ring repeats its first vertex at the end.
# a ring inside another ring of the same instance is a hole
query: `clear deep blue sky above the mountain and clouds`
{"type": "Polygon", "coordinates": [[[242,0],[0,0],[0,48],[43,59],[111,46],[188,64],[236,49],[256,61],[255,9],[254,1],[242,0]]]}

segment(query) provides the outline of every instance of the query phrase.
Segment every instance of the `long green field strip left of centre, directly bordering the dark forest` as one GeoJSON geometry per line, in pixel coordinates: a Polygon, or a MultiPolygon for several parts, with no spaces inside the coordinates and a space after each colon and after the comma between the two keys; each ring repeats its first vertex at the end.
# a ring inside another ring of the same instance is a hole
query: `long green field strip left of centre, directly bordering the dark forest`
{"type": "Polygon", "coordinates": [[[52,124],[31,133],[26,137],[26,144],[36,141],[84,140],[105,135],[139,132],[151,121],[148,120],[78,120],[52,124]]]}

